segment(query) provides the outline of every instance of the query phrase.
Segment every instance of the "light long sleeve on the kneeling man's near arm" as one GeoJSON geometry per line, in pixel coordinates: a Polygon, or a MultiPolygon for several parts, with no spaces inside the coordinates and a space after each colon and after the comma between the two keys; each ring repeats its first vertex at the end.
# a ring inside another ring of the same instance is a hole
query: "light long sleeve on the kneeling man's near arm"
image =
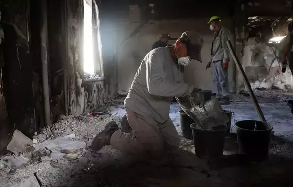
{"type": "Polygon", "coordinates": [[[146,62],[146,84],[151,95],[161,97],[183,97],[191,95],[194,87],[186,83],[169,82],[164,79],[160,54],[153,54],[146,62]]]}

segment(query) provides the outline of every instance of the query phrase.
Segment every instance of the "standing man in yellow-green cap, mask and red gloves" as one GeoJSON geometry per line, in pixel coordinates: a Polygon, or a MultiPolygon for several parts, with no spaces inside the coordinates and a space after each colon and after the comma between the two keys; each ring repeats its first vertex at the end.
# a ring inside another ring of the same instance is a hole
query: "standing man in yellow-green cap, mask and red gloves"
{"type": "Polygon", "coordinates": [[[222,27],[219,16],[212,16],[208,22],[209,28],[214,32],[214,39],[211,46],[211,58],[206,69],[213,65],[213,82],[217,88],[217,99],[220,104],[230,104],[229,81],[228,81],[228,62],[229,49],[227,41],[230,38],[230,31],[222,27]]]}

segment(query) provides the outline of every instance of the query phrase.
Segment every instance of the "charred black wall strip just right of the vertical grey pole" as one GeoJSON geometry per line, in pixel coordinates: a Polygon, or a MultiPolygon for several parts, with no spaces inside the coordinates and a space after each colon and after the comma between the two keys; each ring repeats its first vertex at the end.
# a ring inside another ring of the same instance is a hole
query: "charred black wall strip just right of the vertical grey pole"
{"type": "Polygon", "coordinates": [[[65,115],[66,17],[64,0],[48,0],[48,53],[51,119],[65,115]]]}

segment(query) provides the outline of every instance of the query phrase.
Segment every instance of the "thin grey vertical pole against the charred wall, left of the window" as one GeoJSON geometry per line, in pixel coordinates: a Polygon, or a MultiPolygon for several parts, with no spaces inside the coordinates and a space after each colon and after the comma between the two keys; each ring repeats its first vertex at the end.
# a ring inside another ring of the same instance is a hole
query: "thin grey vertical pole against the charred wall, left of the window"
{"type": "Polygon", "coordinates": [[[42,83],[43,83],[43,101],[45,126],[51,124],[50,119],[50,95],[49,95],[49,78],[48,78],[48,20],[47,20],[47,1],[40,0],[40,36],[41,36],[41,57],[42,57],[42,83]]]}

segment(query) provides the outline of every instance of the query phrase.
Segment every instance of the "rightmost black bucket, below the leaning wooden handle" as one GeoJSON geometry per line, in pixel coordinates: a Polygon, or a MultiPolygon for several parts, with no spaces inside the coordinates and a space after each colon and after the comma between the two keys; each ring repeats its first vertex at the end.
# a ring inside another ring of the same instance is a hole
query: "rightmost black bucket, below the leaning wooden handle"
{"type": "Polygon", "coordinates": [[[255,120],[238,121],[235,126],[239,153],[249,155],[255,162],[265,160],[269,152],[273,126],[255,120]]]}

